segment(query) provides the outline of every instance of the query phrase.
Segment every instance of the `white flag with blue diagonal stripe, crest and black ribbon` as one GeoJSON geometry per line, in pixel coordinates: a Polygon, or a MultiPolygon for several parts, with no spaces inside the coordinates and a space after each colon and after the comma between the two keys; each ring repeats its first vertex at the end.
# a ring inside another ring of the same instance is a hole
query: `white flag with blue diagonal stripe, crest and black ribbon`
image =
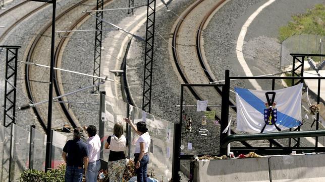
{"type": "Polygon", "coordinates": [[[266,133],[300,126],[302,85],[268,91],[235,88],[237,130],[266,133]]]}

